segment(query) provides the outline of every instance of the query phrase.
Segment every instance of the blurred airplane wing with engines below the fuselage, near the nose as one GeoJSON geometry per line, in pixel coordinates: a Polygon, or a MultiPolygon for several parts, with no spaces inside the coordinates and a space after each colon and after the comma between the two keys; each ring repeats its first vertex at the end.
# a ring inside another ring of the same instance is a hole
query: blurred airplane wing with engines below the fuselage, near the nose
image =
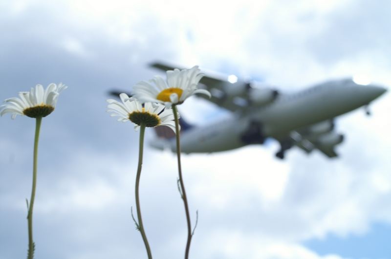
{"type": "Polygon", "coordinates": [[[333,120],[323,121],[306,128],[292,131],[289,136],[292,144],[310,153],[317,149],[328,157],[336,157],[335,146],[342,143],[344,135],[334,131],[333,120]]]}

